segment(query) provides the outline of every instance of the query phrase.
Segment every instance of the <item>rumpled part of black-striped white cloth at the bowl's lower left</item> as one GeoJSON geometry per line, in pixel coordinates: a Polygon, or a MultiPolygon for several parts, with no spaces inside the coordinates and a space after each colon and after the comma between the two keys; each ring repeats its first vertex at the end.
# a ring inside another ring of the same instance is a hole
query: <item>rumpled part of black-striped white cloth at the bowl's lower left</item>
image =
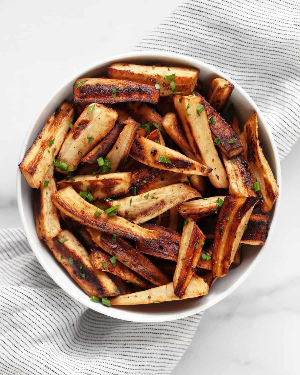
{"type": "Polygon", "coordinates": [[[202,313],[134,323],[87,309],[52,281],[23,229],[0,230],[0,374],[170,374],[202,313]]]}

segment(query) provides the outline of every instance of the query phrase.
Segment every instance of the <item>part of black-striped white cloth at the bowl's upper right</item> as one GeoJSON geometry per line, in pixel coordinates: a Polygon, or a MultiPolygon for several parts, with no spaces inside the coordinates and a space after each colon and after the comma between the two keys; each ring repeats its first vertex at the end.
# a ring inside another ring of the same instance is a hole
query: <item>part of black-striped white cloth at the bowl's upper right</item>
{"type": "Polygon", "coordinates": [[[299,0],[184,1],[135,47],[192,56],[232,77],[272,128],[280,158],[300,135],[299,0]]]}

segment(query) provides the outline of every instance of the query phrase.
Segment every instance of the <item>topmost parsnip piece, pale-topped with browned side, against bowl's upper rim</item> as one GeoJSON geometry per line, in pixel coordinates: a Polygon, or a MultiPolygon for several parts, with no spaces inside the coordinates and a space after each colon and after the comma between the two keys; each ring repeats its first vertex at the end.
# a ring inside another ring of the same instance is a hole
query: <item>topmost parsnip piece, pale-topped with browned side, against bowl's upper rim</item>
{"type": "Polygon", "coordinates": [[[160,96],[171,96],[174,91],[180,91],[183,92],[183,95],[189,95],[195,89],[198,74],[199,70],[193,68],[147,66],[128,63],[114,63],[107,69],[109,78],[151,84],[159,89],[157,91],[160,91],[160,96]],[[176,86],[171,82],[174,82],[176,86]]]}

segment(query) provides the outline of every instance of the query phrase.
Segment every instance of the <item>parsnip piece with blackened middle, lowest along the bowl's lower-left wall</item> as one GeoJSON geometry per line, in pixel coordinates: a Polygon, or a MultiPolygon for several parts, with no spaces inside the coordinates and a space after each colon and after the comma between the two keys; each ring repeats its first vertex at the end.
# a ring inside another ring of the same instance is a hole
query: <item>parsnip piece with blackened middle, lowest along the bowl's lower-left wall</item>
{"type": "Polygon", "coordinates": [[[71,232],[64,230],[46,244],[58,262],[65,267],[72,279],[89,297],[120,294],[107,273],[93,268],[88,252],[71,232]]]}

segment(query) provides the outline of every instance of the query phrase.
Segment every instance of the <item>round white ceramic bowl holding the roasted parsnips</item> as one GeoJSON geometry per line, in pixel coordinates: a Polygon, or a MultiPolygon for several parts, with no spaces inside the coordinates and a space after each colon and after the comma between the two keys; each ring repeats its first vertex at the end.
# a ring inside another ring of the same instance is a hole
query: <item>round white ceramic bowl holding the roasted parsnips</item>
{"type": "MultiPolygon", "coordinates": [[[[153,65],[154,63],[163,63],[171,66],[191,66],[198,68],[200,71],[199,79],[203,83],[204,92],[206,92],[210,82],[217,77],[225,78],[234,84],[234,90],[230,98],[230,102],[234,103],[237,110],[240,123],[245,123],[254,113],[257,111],[258,124],[259,124],[259,137],[261,144],[266,155],[267,160],[270,163],[272,171],[279,185],[279,199],[277,200],[272,211],[269,213],[270,216],[270,231],[269,237],[273,234],[273,228],[275,226],[275,220],[278,216],[279,201],[281,197],[281,169],[279,164],[279,157],[275,141],[273,139],[271,129],[264,119],[261,111],[249,97],[248,94],[230,77],[223,74],[213,66],[207,65],[191,57],[184,55],[177,55],[167,52],[130,52],[127,54],[117,55],[104,59],[81,72],[77,75],[69,78],[69,80],[63,84],[57,92],[54,93],[45,104],[45,107],[41,108],[33,123],[28,129],[27,136],[24,140],[21,153],[20,161],[22,160],[26,150],[33,143],[36,135],[39,133],[43,124],[46,122],[49,115],[57,108],[64,99],[71,99],[73,93],[73,85],[79,77],[99,77],[106,73],[107,67],[114,62],[131,62],[138,64],[153,65]]],[[[89,297],[83,293],[80,287],[71,279],[65,269],[55,260],[51,251],[47,246],[37,238],[36,229],[33,219],[32,210],[32,190],[28,186],[27,182],[21,175],[18,169],[17,175],[17,197],[18,207],[25,229],[27,240],[39,260],[42,267],[46,270],[48,275],[70,296],[81,302],[83,305],[91,308],[95,311],[101,312],[102,314],[109,315],[114,318],[137,321],[137,322],[160,322],[175,320],[178,318],[184,318],[197,312],[203,311],[233,292],[251,271],[256,266],[258,259],[262,251],[269,251],[268,241],[266,245],[261,246],[249,246],[248,249],[243,251],[243,261],[239,267],[236,267],[228,273],[225,278],[222,278],[211,288],[207,296],[201,298],[194,298],[183,301],[164,302],[161,304],[151,304],[144,306],[123,306],[123,307],[111,307],[102,305],[101,303],[91,302],[89,297]]]]}

